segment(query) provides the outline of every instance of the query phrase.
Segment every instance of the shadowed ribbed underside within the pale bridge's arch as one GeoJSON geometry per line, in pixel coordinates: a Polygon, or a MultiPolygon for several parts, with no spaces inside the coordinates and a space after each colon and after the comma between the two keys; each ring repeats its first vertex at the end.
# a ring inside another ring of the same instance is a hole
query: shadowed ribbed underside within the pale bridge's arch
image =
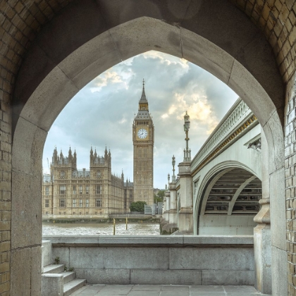
{"type": "Polygon", "coordinates": [[[252,235],[262,198],[261,180],[245,168],[226,168],[206,185],[197,221],[198,233],[252,235]]]}

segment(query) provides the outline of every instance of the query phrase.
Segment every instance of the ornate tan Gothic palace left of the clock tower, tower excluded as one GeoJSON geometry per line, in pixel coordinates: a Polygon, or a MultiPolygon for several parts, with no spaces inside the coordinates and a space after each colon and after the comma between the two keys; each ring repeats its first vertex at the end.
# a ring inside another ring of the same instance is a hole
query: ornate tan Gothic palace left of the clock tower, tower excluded
{"type": "Polygon", "coordinates": [[[51,173],[42,185],[42,214],[63,216],[108,216],[129,211],[133,183],[111,173],[111,152],[104,156],[90,149],[90,170],[77,169],[76,152],[58,156],[54,149],[51,173]]]}

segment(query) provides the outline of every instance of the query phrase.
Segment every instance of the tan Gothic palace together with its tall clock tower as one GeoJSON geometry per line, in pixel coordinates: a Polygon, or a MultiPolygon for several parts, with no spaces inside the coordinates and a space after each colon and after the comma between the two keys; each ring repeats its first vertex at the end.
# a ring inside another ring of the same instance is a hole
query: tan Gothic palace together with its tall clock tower
{"type": "Polygon", "coordinates": [[[130,203],[151,205],[153,194],[154,125],[144,90],[132,123],[133,182],[123,172],[111,171],[111,151],[99,156],[90,148],[90,168],[77,168],[77,154],[54,149],[50,173],[43,175],[42,214],[52,216],[101,216],[129,211],[130,203]]]}

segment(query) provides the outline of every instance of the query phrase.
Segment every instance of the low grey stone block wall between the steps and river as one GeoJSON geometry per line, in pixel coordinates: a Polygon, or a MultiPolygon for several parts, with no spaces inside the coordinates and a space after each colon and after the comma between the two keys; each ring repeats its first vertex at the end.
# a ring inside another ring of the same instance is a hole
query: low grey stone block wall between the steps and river
{"type": "Polygon", "coordinates": [[[252,235],[44,237],[92,284],[254,285],[252,235]]]}

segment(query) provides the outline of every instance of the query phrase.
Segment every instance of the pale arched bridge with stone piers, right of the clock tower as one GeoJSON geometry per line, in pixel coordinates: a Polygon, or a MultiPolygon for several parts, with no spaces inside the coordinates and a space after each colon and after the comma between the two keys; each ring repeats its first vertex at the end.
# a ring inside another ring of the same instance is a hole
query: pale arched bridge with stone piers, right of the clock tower
{"type": "Polygon", "coordinates": [[[174,235],[254,234],[257,286],[271,292],[268,157],[257,117],[238,99],[192,160],[184,152],[178,178],[168,176],[161,229],[178,229],[174,235]]]}

